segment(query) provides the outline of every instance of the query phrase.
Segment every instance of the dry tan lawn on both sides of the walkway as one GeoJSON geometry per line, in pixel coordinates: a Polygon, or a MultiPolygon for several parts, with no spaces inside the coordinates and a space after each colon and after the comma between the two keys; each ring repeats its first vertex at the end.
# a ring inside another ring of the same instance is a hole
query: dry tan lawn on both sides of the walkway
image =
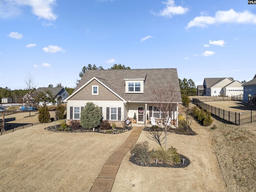
{"type": "MultiPolygon", "coordinates": [[[[168,146],[190,159],[186,168],[137,166],[128,160],[128,153],[112,192],[255,191],[256,124],[235,126],[218,120],[213,124],[215,130],[194,122],[196,136],[168,135],[168,146]]],[[[109,135],[44,130],[50,125],[54,122],[0,136],[0,191],[90,191],[107,158],[131,132],[109,135]]],[[[156,148],[146,134],[142,131],[138,141],[148,140],[150,147],[156,148]]]]}

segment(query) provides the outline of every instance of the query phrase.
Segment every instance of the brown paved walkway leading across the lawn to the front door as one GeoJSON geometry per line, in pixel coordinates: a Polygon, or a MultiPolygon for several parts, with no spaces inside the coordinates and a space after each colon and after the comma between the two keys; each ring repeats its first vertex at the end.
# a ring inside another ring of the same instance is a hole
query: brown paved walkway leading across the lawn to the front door
{"type": "Polygon", "coordinates": [[[137,142],[143,127],[134,127],[126,141],[106,160],[90,192],[111,192],[116,174],[124,156],[137,142]]]}

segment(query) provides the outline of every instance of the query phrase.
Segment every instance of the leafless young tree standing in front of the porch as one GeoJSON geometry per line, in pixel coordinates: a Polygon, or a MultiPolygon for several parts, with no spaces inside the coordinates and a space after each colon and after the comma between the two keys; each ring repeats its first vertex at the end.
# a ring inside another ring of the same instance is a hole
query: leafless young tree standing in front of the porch
{"type": "Polygon", "coordinates": [[[177,104],[174,102],[176,96],[177,89],[173,86],[154,87],[152,89],[153,113],[157,114],[156,118],[160,122],[158,126],[164,132],[165,150],[167,150],[168,131],[171,128],[171,124],[174,124],[177,118],[177,114],[175,113],[177,104]]]}

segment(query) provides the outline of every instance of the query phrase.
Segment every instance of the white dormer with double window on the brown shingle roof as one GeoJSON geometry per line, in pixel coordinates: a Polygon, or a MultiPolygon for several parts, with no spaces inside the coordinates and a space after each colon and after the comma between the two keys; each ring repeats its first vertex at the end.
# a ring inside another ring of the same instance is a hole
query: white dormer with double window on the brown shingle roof
{"type": "Polygon", "coordinates": [[[143,93],[144,79],[125,80],[126,93],[143,93]]]}

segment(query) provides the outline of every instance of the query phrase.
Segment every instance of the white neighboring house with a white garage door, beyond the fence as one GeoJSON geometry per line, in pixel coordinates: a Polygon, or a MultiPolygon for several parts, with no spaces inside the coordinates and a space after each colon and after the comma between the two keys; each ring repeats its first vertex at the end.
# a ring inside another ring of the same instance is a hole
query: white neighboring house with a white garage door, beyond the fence
{"type": "MultiPolygon", "coordinates": [[[[201,86],[200,86],[201,87],[201,86]]],[[[243,94],[242,83],[233,78],[204,78],[203,96],[230,97],[243,94]]]]}

